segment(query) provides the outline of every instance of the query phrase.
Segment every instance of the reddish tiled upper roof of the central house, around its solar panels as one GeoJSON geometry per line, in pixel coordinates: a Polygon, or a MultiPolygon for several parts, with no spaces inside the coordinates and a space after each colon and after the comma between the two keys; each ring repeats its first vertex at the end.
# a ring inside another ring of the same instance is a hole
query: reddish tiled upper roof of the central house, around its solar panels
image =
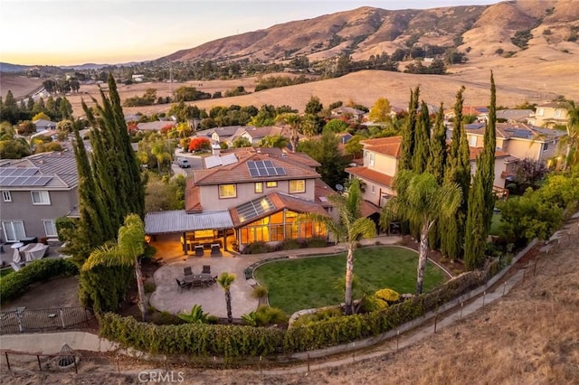
{"type": "Polygon", "coordinates": [[[299,166],[294,162],[287,161],[281,157],[271,156],[257,152],[236,153],[238,162],[235,164],[221,165],[209,170],[194,171],[193,181],[195,185],[211,185],[221,183],[244,183],[244,182],[264,182],[281,181],[290,179],[312,179],[318,178],[319,174],[309,167],[299,166]],[[253,176],[247,166],[248,161],[270,160],[275,167],[285,169],[285,175],[253,176]]]}

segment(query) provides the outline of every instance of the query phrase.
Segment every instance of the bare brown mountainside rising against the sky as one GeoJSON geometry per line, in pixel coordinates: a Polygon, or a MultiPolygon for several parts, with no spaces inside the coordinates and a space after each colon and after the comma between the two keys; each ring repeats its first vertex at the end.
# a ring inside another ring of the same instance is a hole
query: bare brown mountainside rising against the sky
{"type": "Polygon", "coordinates": [[[461,41],[460,50],[473,59],[494,55],[498,49],[521,51],[511,42],[517,32],[531,30],[533,40],[538,40],[535,43],[556,47],[576,34],[577,28],[579,2],[575,0],[517,0],[396,11],[365,6],[206,42],[159,61],[282,61],[299,55],[320,60],[339,54],[359,60],[406,48],[409,39],[416,38],[416,44],[422,46],[452,46],[461,41]],[[545,30],[549,34],[542,34],[545,30]]]}

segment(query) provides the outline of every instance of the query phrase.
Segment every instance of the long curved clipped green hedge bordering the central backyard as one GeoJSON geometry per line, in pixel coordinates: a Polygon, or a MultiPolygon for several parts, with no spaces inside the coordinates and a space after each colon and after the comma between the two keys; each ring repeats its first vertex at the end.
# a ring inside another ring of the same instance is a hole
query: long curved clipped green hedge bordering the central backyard
{"type": "Polygon", "coordinates": [[[100,333],[124,347],[151,353],[234,358],[267,356],[275,352],[305,352],[393,330],[484,284],[487,278],[487,272],[483,271],[466,273],[430,293],[382,310],[332,317],[290,327],[287,331],[211,324],[155,325],[107,313],[100,317],[100,333]]]}

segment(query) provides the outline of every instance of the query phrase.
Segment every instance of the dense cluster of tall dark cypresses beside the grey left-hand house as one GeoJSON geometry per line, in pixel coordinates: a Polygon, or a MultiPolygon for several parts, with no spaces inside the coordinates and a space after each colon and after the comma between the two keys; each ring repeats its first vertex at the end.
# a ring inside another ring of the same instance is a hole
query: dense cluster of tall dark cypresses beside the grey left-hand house
{"type": "Polygon", "coordinates": [[[109,97],[102,90],[100,96],[102,106],[95,99],[95,108],[82,102],[92,127],[90,158],[75,127],[81,221],[70,248],[79,262],[88,258],[93,249],[114,240],[128,214],[144,216],[144,184],[112,76],[109,76],[109,97]]]}

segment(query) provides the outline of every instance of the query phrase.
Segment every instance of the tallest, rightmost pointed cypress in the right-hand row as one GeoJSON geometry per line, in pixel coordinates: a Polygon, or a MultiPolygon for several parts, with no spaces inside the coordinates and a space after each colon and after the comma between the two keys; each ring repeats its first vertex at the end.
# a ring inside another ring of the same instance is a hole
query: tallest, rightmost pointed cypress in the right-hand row
{"type": "Polygon", "coordinates": [[[484,148],[477,159],[477,172],[469,192],[469,210],[464,239],[464,262],[470,270],[479,268],[485,258],[485,242],[489,235],[495,196],[492,192],[495,178],[496,133],[496,89],[490,72],[489,123],[485,130],[484,148]]]}

